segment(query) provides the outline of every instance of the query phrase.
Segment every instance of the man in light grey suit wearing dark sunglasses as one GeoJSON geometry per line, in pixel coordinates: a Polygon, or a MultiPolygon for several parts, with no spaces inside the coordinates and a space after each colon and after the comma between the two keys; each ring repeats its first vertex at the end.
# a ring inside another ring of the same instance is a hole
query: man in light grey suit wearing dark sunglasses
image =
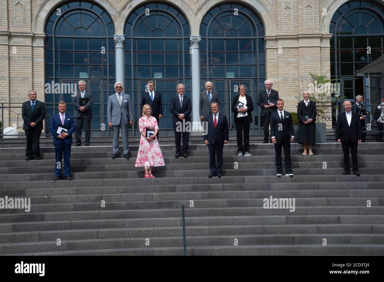
{"type": "Polygon", "coordinates": [[[121,129],[124,158],[128,160],[128,124],[131,125],[133,121],[132,101],[131,96],[122,93],[123,86],[121,82],[116,82],[114,87],[116,93],[108,97],[107,106],[108,126],[113,128],[112,159],[118,158],[119,130],[121,129]]]}

